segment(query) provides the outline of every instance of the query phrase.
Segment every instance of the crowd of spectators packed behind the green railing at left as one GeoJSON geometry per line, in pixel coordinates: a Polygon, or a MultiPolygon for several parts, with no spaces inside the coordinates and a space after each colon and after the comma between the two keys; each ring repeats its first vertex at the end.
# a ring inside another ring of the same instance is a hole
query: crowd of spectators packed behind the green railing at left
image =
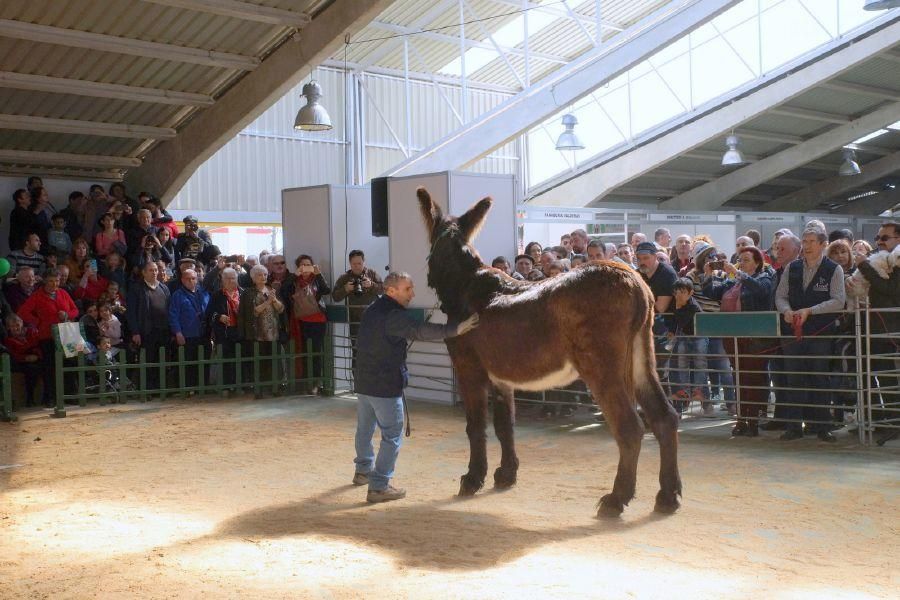
{"type": "MultiPolygon", "coordinates": [[[[78,322],[86,352],[102,352],[110,361],[154,363],[173,357],[179,347],[187,360],[201,348],[234,358],[263,355],[261,379],[272,381],[277,393],[279,367],[271,355],[273,343],[307,342],[321,352],[326,316],[323,298],[332,294],[323,274],[308,255],[292,269],[279,254],[225,256],[197,219],[187,216],[179,231],[158,199],[146,192],[136,197],[115,183],[109,190],[90,186],[85,195],[74,191],[57,209],[39,177],[13,194],[10,215],[9,272],[0,293],[0,350],[11,355],[15,371],[26,383],[26,405],[55,404],[53,377],[57,357],[54,325],[78,322]],[[258,344],[255,342],[259,342],[258,344]],[[267,359],[268,358],[268,359],[267,359]]],[[[361,251],[350,255],[350,270],[334,290],[337,300],[359,306],[381,293],[381,280],[365,268],[361,251]]],[[[323,361],[316,357],[310,393],[319,391],[323,361]]],[[[306,363],[294,365],[304,377],[306,363]]],[[[226,385],[237,381],[235,368],[222,370],[226,385]]],[[[149,391],[159,386],[158,370],[148,369],[149,391]]],[[[199,370],[186,370],[187,385],[196,385],[199,370]]],[[[246,369],[243,381],[249,381],[246,369]]]]}

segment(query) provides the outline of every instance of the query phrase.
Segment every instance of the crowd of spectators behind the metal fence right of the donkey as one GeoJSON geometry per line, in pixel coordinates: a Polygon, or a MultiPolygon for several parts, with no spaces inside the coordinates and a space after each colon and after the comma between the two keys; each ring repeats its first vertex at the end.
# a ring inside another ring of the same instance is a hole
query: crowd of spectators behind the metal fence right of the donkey
{"type": "MultiPolygon", "coordinates": [[[[900,307],[900,268],[886,277],[869,261],[876,252],[892,252],[900,245],[900,224],[884,223],[874,247],[854,239],[847,229],[829,234],[817,220],[806,223],[799,235],[789,229],[777,231],[765,249],[760,233],[752,229],[737,236],[733,252],[707,235],[679,235],[673,240],[666,228],[657,229],[653,241],[642,233],[629,240],[605,243],[576,229],[564,234],[559,245],[544,247],[531,241],[514,263],[499,256],[492,266],[528,281],[555,277],[596,260],[636,269],[653,292],[654,332],[670,353],[660,367],[668,374],[671,401],[678,410],[697,402],[704,414],[713,415],[713,398],[718,397],[722,408],[737,418],[735,436],[757,436],[761,428],[783,431],[783,440],[810,434],[834,441],[832,431],[843,426],[856,406],[855,392],[849,390],[856,389],[857,376],[854,361],[834,358],[853,356],[853,340],[835,336],[852,333],[853,311],[866,302],[873,310],[900,307]],[[867,281],[868,295],[852,285],[857,270],[867,281]],[[694,335],[697,313],[755,311],[780,313],[782,338],[694,335]],[[760,425],[768,417],[770,390],[775,412],[760,425]]],[[[900,313],[873,314],[877,317],[872,318],[873,333],[900,331],[900,313]]],[[[897,352],[896,342],[886,336],[871,342],[873,354],[897,352]]],[[[875,414],[885,419],[887,405],[900,402],[896,391],[890,392],[897,387],[892,368],[892,360],[872,361],[878,376],[873,385],[884,390],[877,395],[875,414]]],[[[544,412],[555,414],[553,409],[544,412]]],[[[568,409],[562,414],[570,413],[568,409]]],[[[887,430],[883,437],[894,435],[896,430],[887,430]]]]}

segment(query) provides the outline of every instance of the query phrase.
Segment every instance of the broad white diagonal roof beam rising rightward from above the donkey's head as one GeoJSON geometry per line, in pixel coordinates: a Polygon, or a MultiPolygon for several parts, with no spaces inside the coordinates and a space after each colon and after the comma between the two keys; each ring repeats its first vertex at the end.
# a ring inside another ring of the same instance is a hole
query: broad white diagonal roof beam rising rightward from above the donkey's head
{"type": "Polygon", "coordinates": [[[615,36],[609,43],[586,52],[538,84],[513,96],[385,174],[401,176],[430,173],[474,164],[495,148],[509,143],[530,127],[587,96],[738,1],[694,0],[667,3],[615,36]]]}

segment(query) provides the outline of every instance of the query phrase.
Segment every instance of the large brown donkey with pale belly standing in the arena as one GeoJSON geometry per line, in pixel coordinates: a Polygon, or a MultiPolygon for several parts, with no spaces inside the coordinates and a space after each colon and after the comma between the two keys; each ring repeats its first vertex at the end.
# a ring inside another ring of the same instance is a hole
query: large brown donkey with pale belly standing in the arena
{"type": "Polygon", "coordinates": [[[491,198],[461,217],[444,216],[425,188],[417,190],[431,242],[428,286],[450,319],[479,313],[471,332],[446,340],[466,410],[470,455],[459,495],[471,496],[487,474],[486,420],[493,385],[494,431],[500,441],[497,489],[516,483],[513,389],[566,386],[579,376],[590,387],[619,447],[612,492],[600,499],[598,516],[618,516],[634,497],[644,426],[640,404],[659,442],[660,490],[655,510],[679,505],[678,414],[667,401],[653,353],[653,295],[640,275],[598,261],[550,280],[520,282],[482,264],[472,240],[491,198]]]}

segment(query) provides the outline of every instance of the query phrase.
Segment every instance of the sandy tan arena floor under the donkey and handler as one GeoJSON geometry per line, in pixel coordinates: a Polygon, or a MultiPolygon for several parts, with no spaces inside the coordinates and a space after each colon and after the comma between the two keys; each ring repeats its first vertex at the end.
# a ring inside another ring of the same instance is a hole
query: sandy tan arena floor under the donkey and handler
{"type": "MultiPolygon", "coordinates": [[[[519,485],[457,500],[458,410],[414,404],[377,506],[352,399],[167,401],[0,423],[2,598],[888,598],[900,451],[728,439],[685,422],[682,510],[598,520],[615,444],[587,415],[520,417],[519,485]]],[[[491,471],[499,447],[489,436],[491,471]]],[[[893,590],[893,592],[891,592],[893,590]]]]}

